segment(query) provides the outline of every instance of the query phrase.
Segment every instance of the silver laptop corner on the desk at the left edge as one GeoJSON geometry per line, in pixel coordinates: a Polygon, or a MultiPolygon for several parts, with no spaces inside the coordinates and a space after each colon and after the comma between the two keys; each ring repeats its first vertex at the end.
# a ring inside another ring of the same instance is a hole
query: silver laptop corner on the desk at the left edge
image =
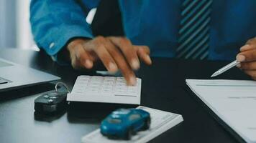
{"type": "Polygon", "coordinates": [[[0,92],[58,79],[60,77],[0,58],[0,92]]]}

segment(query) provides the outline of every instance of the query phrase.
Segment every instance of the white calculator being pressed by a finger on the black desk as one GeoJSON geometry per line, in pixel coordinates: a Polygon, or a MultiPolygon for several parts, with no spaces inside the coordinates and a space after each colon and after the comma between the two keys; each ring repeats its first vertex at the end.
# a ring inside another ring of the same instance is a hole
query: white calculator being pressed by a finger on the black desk
{"type": "Polygon", "coordinates": [[[127,86],[124,77],[78,76],[70,102],[101,102],[116,104],[140,104],[142,80],[135,86],[127,86]]]}

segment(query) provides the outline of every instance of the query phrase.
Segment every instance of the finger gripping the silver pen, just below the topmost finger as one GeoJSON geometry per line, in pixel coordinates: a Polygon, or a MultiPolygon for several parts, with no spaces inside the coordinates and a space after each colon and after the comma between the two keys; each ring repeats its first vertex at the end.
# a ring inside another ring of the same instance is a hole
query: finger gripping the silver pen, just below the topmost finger
{"type": "Polygon", "coordinates": [[[237,61],[255,61],[256,60],[256,49],[249,51],[242,51],[237,54],[237,61]]]}

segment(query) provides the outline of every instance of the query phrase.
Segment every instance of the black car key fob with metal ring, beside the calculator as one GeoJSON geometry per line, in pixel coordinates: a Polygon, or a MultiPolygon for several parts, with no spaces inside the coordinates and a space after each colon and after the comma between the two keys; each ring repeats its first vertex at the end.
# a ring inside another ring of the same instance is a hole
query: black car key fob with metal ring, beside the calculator
{"type": "Polygon", "coordinates": [[[68,92],[59,92],[58,84],[63,84],[62,82],[58,82],[55,85],[55,90],[42,93],[40,97],[35,99],[35,112],[42,114],[55,114],[57,112],[62,112],[67,107],[67,94],[69,92],[68,87],[66,89],[68,92]]]}

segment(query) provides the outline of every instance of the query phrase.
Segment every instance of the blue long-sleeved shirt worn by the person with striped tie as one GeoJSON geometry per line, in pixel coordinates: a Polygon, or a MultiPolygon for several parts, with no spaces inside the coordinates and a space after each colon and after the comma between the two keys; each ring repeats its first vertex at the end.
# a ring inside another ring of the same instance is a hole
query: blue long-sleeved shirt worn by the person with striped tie
{"type": "MultiPolygon", "coordinates": [[[[58,54],[73,37],[93,38],[86,15],[99,0],[82,1],[83,10],[75,0],[32,0],[32,32],[47,54],[58,54]]],[[[150,46],[151,56],[175,57],[181,0],[119,0],[119,7],[124,32],[133,44],[150,46]]],[[[214,0],[209,59],[235,59],[239,47],[255,34],[255,0],[214,0]]]]}

